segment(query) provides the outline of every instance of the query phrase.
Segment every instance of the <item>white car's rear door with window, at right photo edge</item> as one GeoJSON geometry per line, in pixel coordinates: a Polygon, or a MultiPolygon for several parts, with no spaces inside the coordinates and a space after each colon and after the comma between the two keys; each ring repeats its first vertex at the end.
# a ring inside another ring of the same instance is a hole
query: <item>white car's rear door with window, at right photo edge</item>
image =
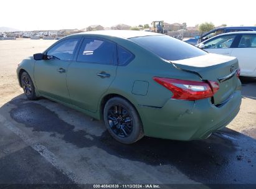
{"type": "Polygon", "coordinates": [[[253,73],[256,69],[256,34],[243,34],[230,55],[239,60],[241,73],[253,73]]]}

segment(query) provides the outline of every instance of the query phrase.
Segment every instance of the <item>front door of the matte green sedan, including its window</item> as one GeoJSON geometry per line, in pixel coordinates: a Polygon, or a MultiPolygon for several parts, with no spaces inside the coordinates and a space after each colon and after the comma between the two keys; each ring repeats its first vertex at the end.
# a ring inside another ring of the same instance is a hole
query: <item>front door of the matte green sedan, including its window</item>
{"type": "Polygon", "coordinates": [[[34,78],[40,94],[61,101],[69,100],[67,69],[80,39],[61,40],[47,51],[47,60],[37,60],[34,78]]]}

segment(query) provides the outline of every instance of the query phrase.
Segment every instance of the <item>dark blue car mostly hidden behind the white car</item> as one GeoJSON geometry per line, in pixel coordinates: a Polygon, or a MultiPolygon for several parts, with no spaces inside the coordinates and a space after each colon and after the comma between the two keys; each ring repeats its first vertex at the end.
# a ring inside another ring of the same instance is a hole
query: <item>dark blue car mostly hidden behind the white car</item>
{"type": "Polygon", "coordinates": [[[256,26],[218,27],[209,32],[201,34],[200,36],[191,38],[185,42],[192,44],[192,45],[197,45],[197,44],[203,42],[204,40],[210,39],[211,37],[214,37],[219,34],[224,34],[224,33],[229,33],[229,32],[242,32],[242,31],[256,31],[256,26]]]}

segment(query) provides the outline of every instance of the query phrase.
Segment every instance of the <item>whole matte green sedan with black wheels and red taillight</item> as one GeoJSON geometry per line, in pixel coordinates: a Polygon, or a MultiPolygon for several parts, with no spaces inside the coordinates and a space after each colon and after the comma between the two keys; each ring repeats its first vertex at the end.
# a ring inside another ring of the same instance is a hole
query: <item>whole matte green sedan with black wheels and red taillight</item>
{"type": "Polygon", "coordinates": [[[28,99],[39,96],[102,119],[117,141],[189,141],[239,112],[237,58],[168,35],[132,30],[73,34],[17,68],[28,99]]]}

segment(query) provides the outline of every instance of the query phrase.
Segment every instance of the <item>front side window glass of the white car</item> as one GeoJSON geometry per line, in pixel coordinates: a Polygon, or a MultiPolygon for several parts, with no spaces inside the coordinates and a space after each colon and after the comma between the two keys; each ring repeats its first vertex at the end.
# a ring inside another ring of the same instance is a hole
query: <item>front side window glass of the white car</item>
{"type": "Polygon", "coordinates": [[[230,48],[235,35],[223,35],[209,40],[204,44],[204,48],[230,48]]]}

